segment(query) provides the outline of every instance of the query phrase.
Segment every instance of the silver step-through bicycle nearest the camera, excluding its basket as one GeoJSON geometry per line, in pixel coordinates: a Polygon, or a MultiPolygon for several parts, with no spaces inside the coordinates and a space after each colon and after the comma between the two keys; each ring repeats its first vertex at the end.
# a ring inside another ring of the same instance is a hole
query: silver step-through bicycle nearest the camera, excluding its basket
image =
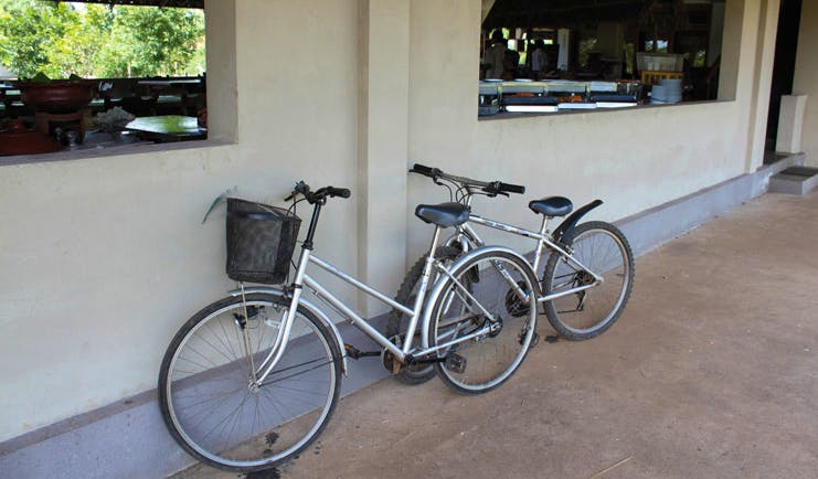
{"type": "Polygon", "coordinates": [[[159,374],[162,417],[199,460],[247,472],[304,450],[336,407],[349,356],[379,354],[395,374],[433,368],[452,388],[480,394],[508,381],[537,343],[539,284],[521,255],[496,246],[455,260],[436,255],[443,230],[469,219],[463,204],[416,207],[434,234],[411,301],[392,300],[319,258],[314,241],[321,209],[328,199],[349,195],[347,189],[311,191],[300,182],[290,198],[312,204],[312,216],[293,283],[242,285],[193,315],[168,347],[159,374]],[[379,332],[310,275],[314,266],[406,315],[405,332],[379,332]],[[323,306],[380,351],[344,344],[323,306]]]}

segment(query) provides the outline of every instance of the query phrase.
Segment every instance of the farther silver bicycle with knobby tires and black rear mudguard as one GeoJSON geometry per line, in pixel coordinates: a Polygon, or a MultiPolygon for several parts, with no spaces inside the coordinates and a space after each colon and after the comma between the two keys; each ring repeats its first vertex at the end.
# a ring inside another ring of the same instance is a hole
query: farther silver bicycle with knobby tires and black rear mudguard
{"type": "MultiPolygon", "coordinates": [[[[560,336],[571,340],[591,339],[608,330],[622,316],[634,286],[630,245],[619,228],[610,223],[593,221],[578,224],[591,210],[603,204],[602,200],[576,211],[573,211],[571,200],[563,196],[531,201],[529,207],[542,215],[542,223],[539,231],[530,231],[471,212],[476,195],[522,194],[524,187],[457,177],[423,164],[415,164],[410,172],[428,177],[436,184],[448,188],[450,200],[469,209],[468,222],[457,225],[455,233],[443,242],[438,258],[454,262],[464,252],[485,246],[470,223],[528,237],[537,242],[530,263],[532,272],[540,272],[545,259],[540,280],[542,295],[538,304],[543,305],[543,312],[560,336]],[[566,215],[560,226],[549,231],[551,220],[566,215]]],[[[397,301],[414,297],[421,270],[422,262],[408,269],[395,297],[397,301]]],[[[516,298],[510,297],[509,302],[513,301],[516,298]]],[[[405,331],[402,326],[406,319],[403,311],[392,310],[386,334],[400,336],[405,331]]],[[[427,365],[416,364],[401,371],[397,379],[406,384],[418,384],[434,374],[427,365]]]]}

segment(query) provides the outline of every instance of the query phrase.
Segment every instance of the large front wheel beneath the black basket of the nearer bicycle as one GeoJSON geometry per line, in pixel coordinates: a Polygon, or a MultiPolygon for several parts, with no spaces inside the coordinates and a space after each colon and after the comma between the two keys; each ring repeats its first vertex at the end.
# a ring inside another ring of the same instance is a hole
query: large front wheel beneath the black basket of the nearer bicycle
{"type": "Polygon", "coordinates": [[[162,418],[201,461],[237,472],[272,468],[304,450],[329,421],[341,352],[306,309],[298,308],[278,364],[263,383],[253,381],[266,369],[288,307],[269,294],[225,298],[194,315],[170,343],[159,374],[162,418]]]}

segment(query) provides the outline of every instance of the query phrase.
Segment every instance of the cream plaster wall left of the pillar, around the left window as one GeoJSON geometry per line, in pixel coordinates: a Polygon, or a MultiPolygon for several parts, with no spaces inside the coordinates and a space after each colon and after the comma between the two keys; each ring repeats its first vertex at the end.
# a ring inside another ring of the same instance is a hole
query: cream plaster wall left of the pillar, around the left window
{"type": "MultiPolygon", "coordinates": [[[[209,19],[209,61],[235,64],[209,109],[235,110],[236,143],[0,166],[0,441],[156,387],[173,332],[234,286],[223,210],[201,224],[216,195],[357,187],[357,21],[354,0],[242,0],[209,19]],[[213,46],[224,32],[232,52],[213,46]]],[[[355,210],[333,202],[319,228],[352,272],[355,210]]]]}

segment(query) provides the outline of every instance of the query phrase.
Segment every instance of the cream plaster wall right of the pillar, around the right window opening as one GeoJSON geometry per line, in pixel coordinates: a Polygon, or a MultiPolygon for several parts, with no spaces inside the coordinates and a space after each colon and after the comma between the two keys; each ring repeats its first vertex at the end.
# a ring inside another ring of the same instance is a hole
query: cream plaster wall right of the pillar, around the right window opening
{"type": "MultiPolygon", "coordinates": [[[[759,0],[727,2],[720,88],[727,100],[481,120],[474,81],[479,6],[413,1],[410,162],[527,185],[525,195],[478,199],[475,210],[531,228],[539,226],[527,207],[534,198],[565,195],[575,205],[599,198],[606,204],[588,217],[613,221],[751,172],[755,88],[772,71],[757,50],[761,7],[759,0]],[[450,35],[450,47],[440,47],[439,31],[450,35]]],[[[419,177],[410,178],[408,195],[410,205],[448,198],[419,177]]],[[[428,231],[412,217],[410,231],[408,256],[417,257],[428,231]]],[[[514,241],[493,231],[486,237],[514,241]]],[[[517,245],[533,247],[524,240],[517,245]]]]}

